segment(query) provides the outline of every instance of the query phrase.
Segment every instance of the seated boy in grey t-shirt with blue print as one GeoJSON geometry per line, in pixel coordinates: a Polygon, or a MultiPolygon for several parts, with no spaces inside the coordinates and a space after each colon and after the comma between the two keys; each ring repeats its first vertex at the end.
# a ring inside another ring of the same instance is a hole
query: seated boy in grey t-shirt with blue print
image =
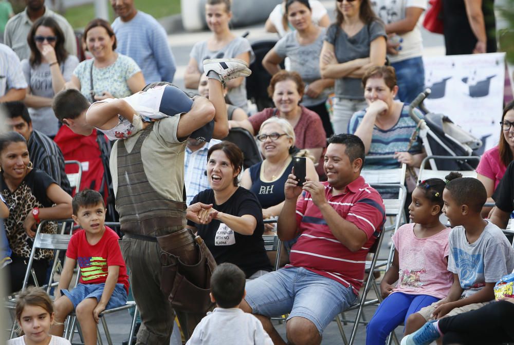
{"type": "MultiPolygon", "coordinates": [[[[507,238],[498,226],[481,217],[487,199],[484,186],[474,178],[456,178],[460,176],[454,172],[448,175],[443,192],[443,212],[453,227],[448,256],[453,285],[446,298],[408,318],[406,334],[428,320],[479,309],[494,299],[494,284],[514,269],[514,251],[507,238]]],[[[409,341],[418,337],[417,333],[409,341]]],[[[434,340],[438,337],[435,334],[434,340]]]]}

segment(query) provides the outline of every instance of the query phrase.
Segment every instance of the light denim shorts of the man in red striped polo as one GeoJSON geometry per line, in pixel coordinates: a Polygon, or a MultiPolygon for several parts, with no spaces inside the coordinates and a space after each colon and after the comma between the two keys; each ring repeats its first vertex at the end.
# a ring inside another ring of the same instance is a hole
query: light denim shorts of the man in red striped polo
{"type": "Polygon", "coordinates": [[[245,299],[253,314],[276,317],[289,313],[288,320],[301,316],[313,322],[320,335],[356,298],[352,287],[303,267],[280,269],[246,283],[245,299]]]}

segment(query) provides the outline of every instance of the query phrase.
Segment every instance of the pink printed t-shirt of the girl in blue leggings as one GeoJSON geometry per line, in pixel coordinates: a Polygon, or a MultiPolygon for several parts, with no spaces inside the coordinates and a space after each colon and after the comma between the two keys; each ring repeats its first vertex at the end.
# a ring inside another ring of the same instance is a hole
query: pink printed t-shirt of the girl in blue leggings
{"type": "Polygon", "coordinates": [[[448,271],[448,236],[451,228],[427,238],[414,235],[414,223],[398,228],[393,243],[398,251],[400,272],[393,292],[445,298],[453,283],[448,271]]]}

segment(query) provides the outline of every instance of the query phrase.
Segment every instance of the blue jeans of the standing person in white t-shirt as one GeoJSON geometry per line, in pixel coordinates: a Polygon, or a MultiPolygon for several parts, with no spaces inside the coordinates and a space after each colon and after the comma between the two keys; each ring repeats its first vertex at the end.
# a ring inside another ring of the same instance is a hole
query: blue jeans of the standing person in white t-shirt
{"type": "Polygon", "coordinates": [[[397,98],[411,103],[425,87],[425,67],[421,56],[391,64],[396,71],[397,98]]]}

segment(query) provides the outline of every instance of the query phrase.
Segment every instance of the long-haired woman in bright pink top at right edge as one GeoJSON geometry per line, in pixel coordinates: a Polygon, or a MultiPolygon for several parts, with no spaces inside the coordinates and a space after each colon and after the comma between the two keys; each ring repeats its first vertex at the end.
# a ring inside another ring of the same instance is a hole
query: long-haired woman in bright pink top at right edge
{"type": "MultiPolygon", "coordinates": [[[[498,146],[488,149],[482,155],[479,166],[476,167],[476,178],[482,182],[487,191],[487,202],[494,202],[492,194],[507,169],[507,165],[514,159],[514,101],[503,109],[500,126],[500,142],[498,146]]],[[[482,217],[488,218],[491,207],[482,208],[482,217]]]]}

